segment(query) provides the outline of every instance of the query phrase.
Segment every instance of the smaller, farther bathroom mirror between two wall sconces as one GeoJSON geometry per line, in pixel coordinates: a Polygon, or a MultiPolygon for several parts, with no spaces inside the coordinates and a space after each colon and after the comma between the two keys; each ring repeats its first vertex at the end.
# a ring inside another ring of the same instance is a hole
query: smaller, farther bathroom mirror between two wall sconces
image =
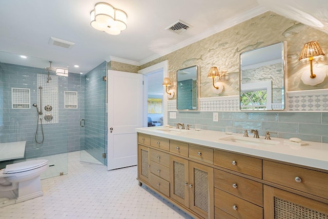
{"type": "Polygon", "coordinates": [[[177,71],[177,110],[198,110],[198,77],[198,66],[196,65],[177,71]]]}

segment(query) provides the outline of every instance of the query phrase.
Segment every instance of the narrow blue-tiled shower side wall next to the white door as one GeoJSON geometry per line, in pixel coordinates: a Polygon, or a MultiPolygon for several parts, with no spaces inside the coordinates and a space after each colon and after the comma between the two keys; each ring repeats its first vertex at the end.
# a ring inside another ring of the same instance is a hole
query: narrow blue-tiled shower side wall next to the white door
{"type": "Polygon", "coordinates": [[[98,161],[104,163],[106,127],[106,76],[104,62],[86,74],[85,81],[85,149],[98,161]]]}

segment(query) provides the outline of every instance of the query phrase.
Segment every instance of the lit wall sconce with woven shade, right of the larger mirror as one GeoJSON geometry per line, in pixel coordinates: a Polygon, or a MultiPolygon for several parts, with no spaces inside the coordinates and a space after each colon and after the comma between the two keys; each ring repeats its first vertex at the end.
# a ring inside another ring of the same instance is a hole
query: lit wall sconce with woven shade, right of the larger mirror
{"type": "Polygon", "coordinates": [[[304,58],[309,58],[310,61],[310,69],[311,69],[311,75],[305,74],[303,72],[302,74],[302,81],[306,85],[317,85],[324,81],[324,78],[326,74],[314,74],[312,70],[312,61],[314,56],[324,55],[322,49],[320,48],[319,44],[316,41],[311,41],[309,43],[305,43],[302,49],[302,52],[299,56],[299,61],[304,58]]]}

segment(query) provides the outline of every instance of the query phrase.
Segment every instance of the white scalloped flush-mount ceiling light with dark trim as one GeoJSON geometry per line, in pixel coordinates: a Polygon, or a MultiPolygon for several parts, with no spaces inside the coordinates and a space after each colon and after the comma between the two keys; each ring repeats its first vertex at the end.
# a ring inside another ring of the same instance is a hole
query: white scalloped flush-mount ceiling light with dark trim
{"type": "Polygon", "coordinates": [[[97,3],[90,12],[91,27],[108,34],[118,35],[127,29],[128,15],[107,3],[97,3]]]}

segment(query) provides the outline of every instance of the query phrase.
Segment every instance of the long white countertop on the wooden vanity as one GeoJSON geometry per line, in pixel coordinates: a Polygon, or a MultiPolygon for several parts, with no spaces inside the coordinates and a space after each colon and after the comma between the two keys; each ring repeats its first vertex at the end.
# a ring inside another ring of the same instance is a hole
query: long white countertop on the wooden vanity
{"type": "MultiPolygon", "coordinates": [[[[289,162],[293,164],[299,164],[323,170],[328,170],[328,144],[318,142],[307,142],[309,145],[298,146],[295,144],[286,144],[284,138],[271,137],[271,140],[264,140],[263,136],[255,138],[252,141],[259,141],[261,143],[268,141],[278,142],[276,145],[249,145],[237,142],[229,142],[220,140],[227,136],[241,137],[242,134],[233,133],[227,135],[224,132],[212,131],[212,130],[200,130],[194,129],[183,131],[161,131],[166,127],[153,126],[145,128],[136,128],[137,132],[156,135],[159,137],[166,137],[172,140],[188,142],[191,144],[208,146],[214,149],[223,149],[233,152],[239,152],[254,156],[260,156],[264,158],[270,158],[277,161],[289,162]]],[[[253,138],[253,134],[249,134],[253,138]]]]}

